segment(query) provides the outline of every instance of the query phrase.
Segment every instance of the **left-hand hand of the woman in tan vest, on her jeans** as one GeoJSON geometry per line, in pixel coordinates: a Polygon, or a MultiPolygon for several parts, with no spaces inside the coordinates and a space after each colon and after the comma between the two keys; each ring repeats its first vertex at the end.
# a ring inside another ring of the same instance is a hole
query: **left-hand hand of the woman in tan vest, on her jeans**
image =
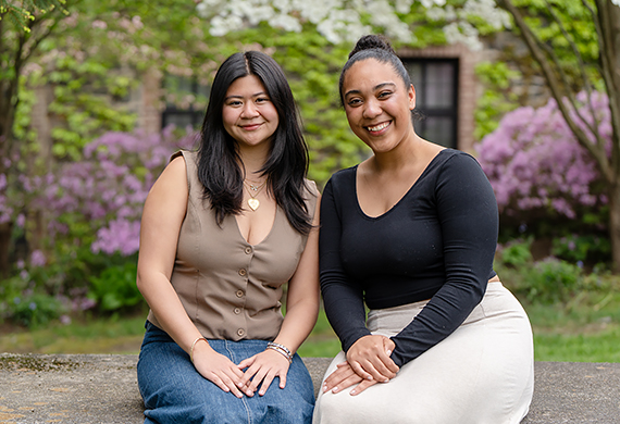
{"type": "Polygon", "coordinates": [[[237,387],[244,372],[228,358],[214,351],[209,342],[201,340],[194,347],[194,366],[208,381],[237,398],[244,395],[237,387]]]}

